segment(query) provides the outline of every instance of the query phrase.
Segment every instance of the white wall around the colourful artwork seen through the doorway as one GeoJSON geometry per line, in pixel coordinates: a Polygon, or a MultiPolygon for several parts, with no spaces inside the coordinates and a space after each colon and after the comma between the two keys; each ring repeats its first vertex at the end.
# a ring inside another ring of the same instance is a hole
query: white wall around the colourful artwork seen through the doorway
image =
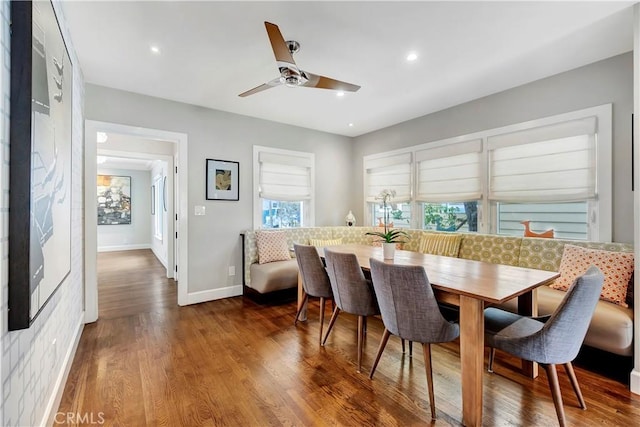
{"type": "Polygon", "coordinates": [[[131,177],[131,224],[98,225],[98,252],[151,248],[151,172],[98,168],[98,175],[131,177]]]}

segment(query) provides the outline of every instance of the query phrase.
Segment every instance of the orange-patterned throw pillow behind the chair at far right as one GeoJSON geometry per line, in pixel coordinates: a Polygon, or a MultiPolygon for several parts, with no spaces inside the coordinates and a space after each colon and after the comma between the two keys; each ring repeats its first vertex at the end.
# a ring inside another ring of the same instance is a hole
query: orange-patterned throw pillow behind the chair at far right
{"type": "Polygon", "coordinates": [[[627,307],[627,286],[633,274],[633,254],[587,249],[565,245],[560,261],[560,277],[550,285],[553,289],[569,290],[574,280],[595,265],[604,274],[600,299],[627,307]]]}

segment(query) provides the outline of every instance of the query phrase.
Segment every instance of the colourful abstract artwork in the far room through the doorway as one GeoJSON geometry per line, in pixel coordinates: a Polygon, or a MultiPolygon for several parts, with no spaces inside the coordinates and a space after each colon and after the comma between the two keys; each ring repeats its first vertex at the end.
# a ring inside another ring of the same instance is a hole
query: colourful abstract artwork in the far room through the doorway
{"type": "Polygon", "coordinates": [[[98,225],[122,224],[131,224],[131,177],[98,175],[98,225]]]}

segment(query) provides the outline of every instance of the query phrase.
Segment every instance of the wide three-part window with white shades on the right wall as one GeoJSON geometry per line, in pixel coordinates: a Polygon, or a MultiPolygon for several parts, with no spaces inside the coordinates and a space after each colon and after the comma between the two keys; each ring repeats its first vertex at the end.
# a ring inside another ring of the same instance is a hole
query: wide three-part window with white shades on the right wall
{"type": "Polygon", "coordinates": [[[389,188],[398,227],[610,241],[611,134],[607,104],[366,156],[367,222],[389,188]]]}

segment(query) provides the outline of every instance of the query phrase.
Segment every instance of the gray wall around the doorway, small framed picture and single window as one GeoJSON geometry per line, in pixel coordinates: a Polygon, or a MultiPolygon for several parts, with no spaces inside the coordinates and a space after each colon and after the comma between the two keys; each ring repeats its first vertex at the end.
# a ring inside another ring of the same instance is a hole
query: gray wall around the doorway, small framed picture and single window
{"type": "Polygon", "coordinates": [[[239,233],[253,228],[253,145],[313,152],[316,225],[341,225],[355,209],[348,137],[283,125],[193,105],[86,85],[86,118],[188,135],[189,289],[242,284],[239,233]],[[240,200],[205,200],[205,159],[240,162],[240,200]],[[206,216],[195,216],[204,205],[206,216]],[[236,275],[227,275],[228,267],[236,275]]]}

